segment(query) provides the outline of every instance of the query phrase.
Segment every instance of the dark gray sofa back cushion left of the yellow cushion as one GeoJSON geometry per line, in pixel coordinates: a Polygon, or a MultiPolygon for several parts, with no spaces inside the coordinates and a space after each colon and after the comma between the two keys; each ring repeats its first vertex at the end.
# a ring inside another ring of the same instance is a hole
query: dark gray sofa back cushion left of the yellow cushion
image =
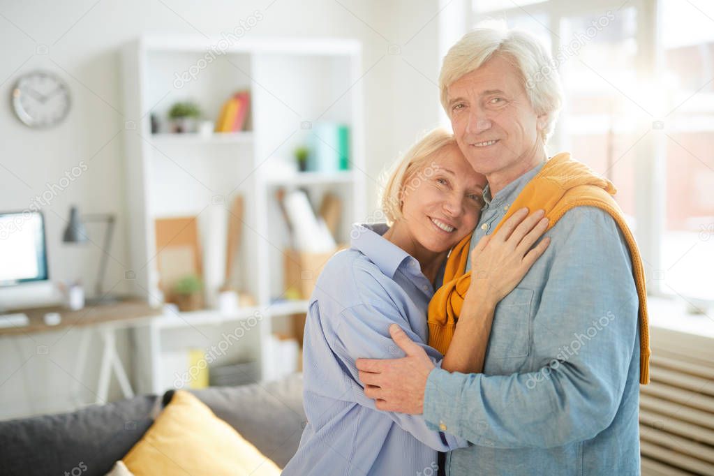
{"type": "Polygon", "coordinates": [[[104,475],[149,429],[158,403],[155,395],[142,395],[71,413],[2,421],[0,475],[104,475]]]}

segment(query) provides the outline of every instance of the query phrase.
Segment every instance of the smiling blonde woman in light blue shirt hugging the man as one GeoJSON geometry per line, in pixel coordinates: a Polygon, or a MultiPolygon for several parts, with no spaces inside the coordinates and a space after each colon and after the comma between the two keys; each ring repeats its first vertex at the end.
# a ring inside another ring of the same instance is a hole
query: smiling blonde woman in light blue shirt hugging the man
{"type": "Polygon", "coordinates": [[[466,294],[448,353],[428,347],[429,300],[449,251],[478,222],[485,186],[453,135],[432,131],[388,181],[382,208],[391,226],[355,226],[351,248],[326,263],[305,328],[308,423],[284,475],[436,475],[438,451],[466,446],[429,430],[421,415],[377,410],[364,395],[355,360],[403,355],[390,338],[396,323],[435,365],[481,371],[496,303],[548,246],[541,240],[533,247],[548,221],[526,209],[499,232],[515,252],[478,243],[471,259],[484,272],[466,294]]]}

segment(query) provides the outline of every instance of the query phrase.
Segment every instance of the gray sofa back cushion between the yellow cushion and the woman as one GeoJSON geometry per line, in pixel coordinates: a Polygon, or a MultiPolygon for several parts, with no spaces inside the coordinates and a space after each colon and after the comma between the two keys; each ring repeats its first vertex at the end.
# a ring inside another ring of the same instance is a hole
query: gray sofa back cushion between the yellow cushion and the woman
{"type": "Polygon", "coordinates": [[[193,394],[279,467],[285,467],[297,451],[306,420],[302,375],[193,394]]]}

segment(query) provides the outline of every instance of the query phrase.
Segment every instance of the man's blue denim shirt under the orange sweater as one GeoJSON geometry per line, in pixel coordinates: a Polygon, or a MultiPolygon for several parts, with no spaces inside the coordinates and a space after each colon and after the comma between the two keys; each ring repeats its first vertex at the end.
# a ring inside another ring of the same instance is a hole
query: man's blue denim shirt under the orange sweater
{"type": "MultiPolygon", "coordinates": [[[[487,198],[471,248],[541,166],[487,198]]],[[[640,348],[630,255],[599,208],[565,213],[496,308],[482,374],[429,375],[424,417],[470,442],[447,475],[635,475],[640,348]]]]}

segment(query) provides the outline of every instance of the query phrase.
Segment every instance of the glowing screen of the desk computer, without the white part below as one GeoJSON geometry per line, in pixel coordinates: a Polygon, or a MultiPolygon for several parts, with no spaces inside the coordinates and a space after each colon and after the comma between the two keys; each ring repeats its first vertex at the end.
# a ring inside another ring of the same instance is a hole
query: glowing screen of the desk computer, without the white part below
{"type": "Polygon", "coordinates": [[[41,212],[0,213],[0,263],[0,286],[49,278],[41,212]]]}

